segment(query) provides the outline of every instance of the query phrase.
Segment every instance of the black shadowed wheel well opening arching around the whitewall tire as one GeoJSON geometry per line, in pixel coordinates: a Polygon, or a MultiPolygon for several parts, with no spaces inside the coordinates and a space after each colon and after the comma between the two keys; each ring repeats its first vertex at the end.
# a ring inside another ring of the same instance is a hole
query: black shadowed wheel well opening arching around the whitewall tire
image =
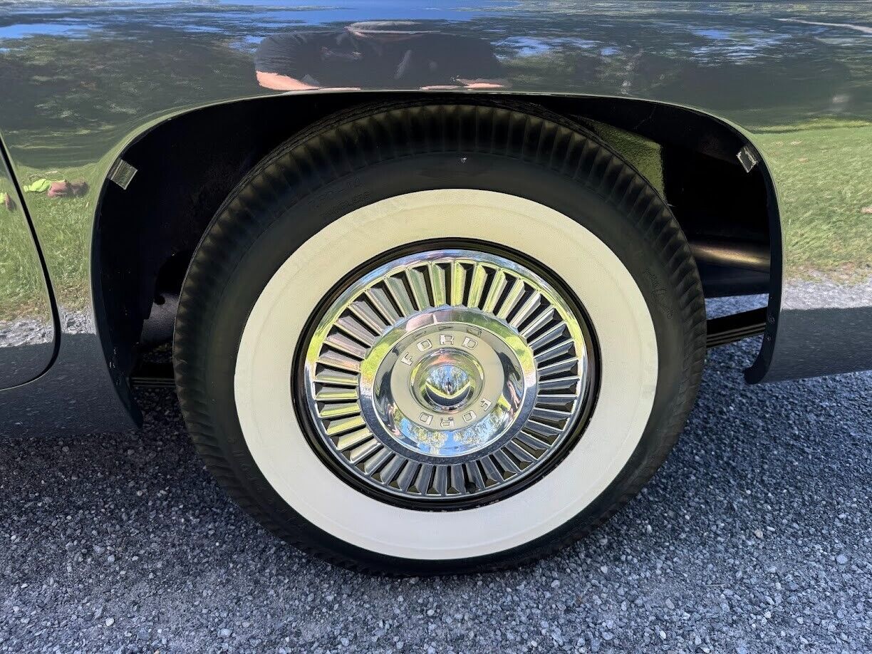
{"type": "MultiPolygon", "coordinates": [[[[127,190],[106,185],[93,244],[95,312],[115,374],[126,381],[141,351],[172,338],[187,263],[250,168],[317,119],[388,95],[287,95],[209,106],[168,119],[126,148],[121,156],[138,172],[127,190]]],[[[642,100],[514,99],[588,126],[664,194],[691,242],[706,296],[770,290],[771,189],[762,166],[746,173],[739,164],[747,143],[732,127],[642,100]]]]}

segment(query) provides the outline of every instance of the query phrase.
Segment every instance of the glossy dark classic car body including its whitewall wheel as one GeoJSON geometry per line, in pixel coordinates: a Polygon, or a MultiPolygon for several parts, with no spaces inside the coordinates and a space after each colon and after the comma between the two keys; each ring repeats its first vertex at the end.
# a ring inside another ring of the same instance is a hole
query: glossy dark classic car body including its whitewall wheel
{"type": "Polygon", "coordinates": [[[868,3],[0,2],[0,432],[172,385],[308,552],[546,555],[707,348],[872,368],[870,71],[868,3]]]}

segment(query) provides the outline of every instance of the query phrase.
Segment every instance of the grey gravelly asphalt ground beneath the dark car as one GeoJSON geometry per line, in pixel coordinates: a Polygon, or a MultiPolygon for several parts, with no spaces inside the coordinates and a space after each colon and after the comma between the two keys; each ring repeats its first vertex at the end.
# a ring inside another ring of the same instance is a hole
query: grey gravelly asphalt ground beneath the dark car
{"type": "Polygon", "coordinates": [[[509,572],[363,576],[229,501],[171,390],[145,426],[0,439],[0,651],[872,651],[872,374],[748,386],[712,351],[670,459],[509,572]]]}

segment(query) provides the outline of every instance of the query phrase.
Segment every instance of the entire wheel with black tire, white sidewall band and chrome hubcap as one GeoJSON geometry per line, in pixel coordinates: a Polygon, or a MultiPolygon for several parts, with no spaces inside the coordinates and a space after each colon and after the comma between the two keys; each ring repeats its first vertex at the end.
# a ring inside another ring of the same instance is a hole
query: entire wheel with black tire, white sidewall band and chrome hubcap
{"type": "Polygon", "coordinates": [[[174,357],[194,442],[277,535],[358,569],[525,562],[662,463],[705,352],[678,223],[533,106],[369,106],[209,226],[174,357]]]}

